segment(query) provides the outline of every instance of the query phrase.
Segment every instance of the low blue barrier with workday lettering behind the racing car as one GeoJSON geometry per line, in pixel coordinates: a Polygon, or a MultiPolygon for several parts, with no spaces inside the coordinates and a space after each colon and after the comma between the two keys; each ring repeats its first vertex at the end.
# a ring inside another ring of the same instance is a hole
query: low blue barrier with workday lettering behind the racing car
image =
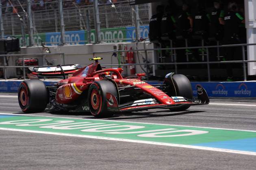
{"type": "MultiPolygon", "coordinates": [[[[17,92],[22,81],[0,81],[0,92],[17,92]]],[[[56,82],[45,81],[51,86],[56,82]]],[[[149,84],[159,84],[149,81],[149,84]]],[[[209,97],[256,97],[256,81],[246,82],[192,82],[193,95],[197,96],[196,86],[206,89],[209,97]]]]}

